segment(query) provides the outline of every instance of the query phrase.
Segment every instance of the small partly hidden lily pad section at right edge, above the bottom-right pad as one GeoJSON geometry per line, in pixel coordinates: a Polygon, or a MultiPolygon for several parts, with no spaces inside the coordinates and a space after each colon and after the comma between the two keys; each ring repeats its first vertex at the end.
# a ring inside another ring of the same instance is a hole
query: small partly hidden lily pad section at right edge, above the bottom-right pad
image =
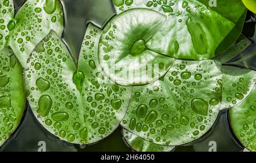
{"type": "Polygon", "coordinates": [[[238,105],[246,99],[255,85],[254,70],[223,66],[222,109],[238,105]]]}

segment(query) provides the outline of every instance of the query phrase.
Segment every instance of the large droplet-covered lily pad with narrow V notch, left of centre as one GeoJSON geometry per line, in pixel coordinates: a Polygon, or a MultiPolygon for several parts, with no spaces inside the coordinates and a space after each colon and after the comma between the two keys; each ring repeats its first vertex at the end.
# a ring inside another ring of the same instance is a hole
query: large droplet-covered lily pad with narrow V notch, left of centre
{"type": "Polygon", "coordinates": [[[102,31],[88,26],[78,68],[55,32],[32,52],[26,65],[28,101],[39,122],[60,139],[95,143],[110,135],[127,110],[131,88],[104,80],[97,51],[102,31]]]}

